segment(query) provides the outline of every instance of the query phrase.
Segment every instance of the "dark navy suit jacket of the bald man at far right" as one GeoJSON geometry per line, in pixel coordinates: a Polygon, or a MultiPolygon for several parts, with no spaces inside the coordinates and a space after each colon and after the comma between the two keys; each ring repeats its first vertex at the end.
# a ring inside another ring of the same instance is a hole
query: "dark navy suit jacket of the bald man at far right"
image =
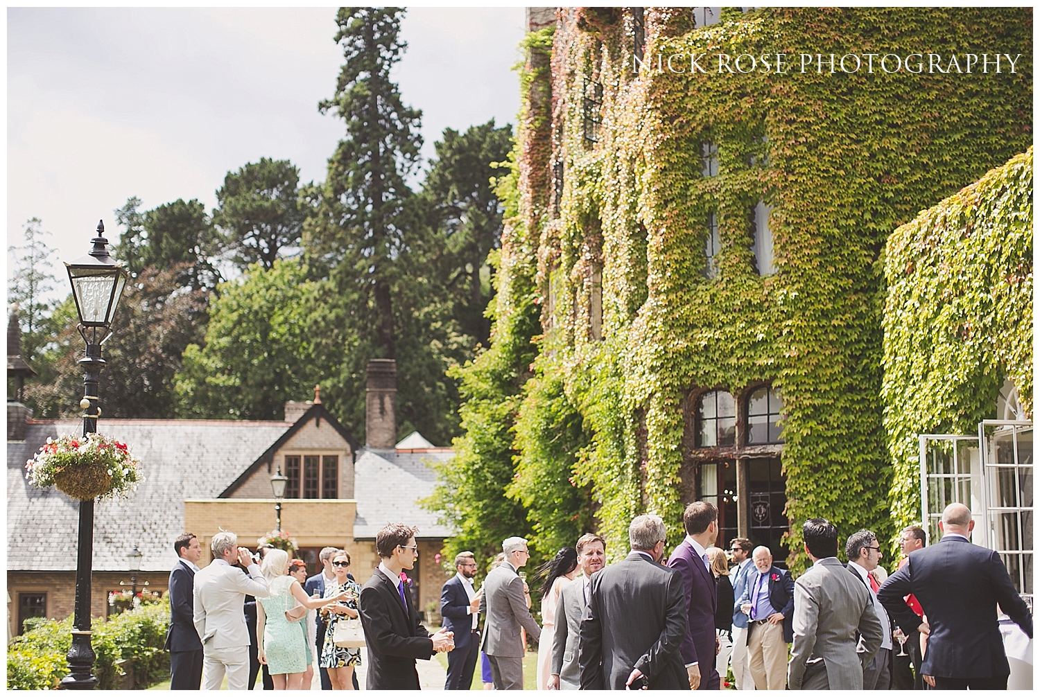
{"type": "Polygon", "coordinates": [[[939,677],[1003,677],[1008,658],[996,620],[996,606],[1033,636],[1033,616],[1011,584],[995,552],[946,536],[910,553],[909,561],[888,577],[878,599],[904,632],[920,618],[903,599],[913,595],[925,609],[931,636],[921,673],[939,677]]]}

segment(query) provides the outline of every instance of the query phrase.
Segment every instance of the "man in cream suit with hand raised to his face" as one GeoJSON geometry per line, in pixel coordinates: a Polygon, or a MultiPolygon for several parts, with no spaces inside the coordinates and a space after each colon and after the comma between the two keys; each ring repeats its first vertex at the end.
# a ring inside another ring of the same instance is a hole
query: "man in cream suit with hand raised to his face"
{"type": "Polygon", "coordinates": [[[267,582],[250,551],[234,533],[219,532],[210,542],[213,561],[194,575],[194,625],[203,646],[204,690],[245,690],[250,675],[250,631],[242,605],[246,595],[267,597],[267,582]],[[236,561],[249,575],[231,564],[236,561]]]}

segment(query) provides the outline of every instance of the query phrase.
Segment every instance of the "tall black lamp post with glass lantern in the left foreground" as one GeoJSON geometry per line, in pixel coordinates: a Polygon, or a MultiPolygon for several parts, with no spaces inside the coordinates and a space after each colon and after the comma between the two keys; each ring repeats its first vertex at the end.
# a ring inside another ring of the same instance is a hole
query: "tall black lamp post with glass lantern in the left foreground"
{"type": "MultiPolygon", "coordinates": [[[[126,286],[127,271],[116,266],[108,256],[105,224],[98,221],[98,236],[90,240],[94,248],[86,257],[66,263],[72,294],[76,299],[79,324],[76,326],[86,342],[84,357],[79,359],[83,377],[83,435],[98,430],[98,381],[101,368],[101,345],[112,336],[112,316],[126,286]],[[100,341],[99,341],[100,337],[100,341]]],[[[72,647],[69,649],[69,675],[62,678],[66,690],[94,690],[98,678],[93,675],[94,648],[90,646],[90,566],[94,556],[94,499],[79,502],[79,545],[76,555],[76,612],[73,620],[72,647]]]]}

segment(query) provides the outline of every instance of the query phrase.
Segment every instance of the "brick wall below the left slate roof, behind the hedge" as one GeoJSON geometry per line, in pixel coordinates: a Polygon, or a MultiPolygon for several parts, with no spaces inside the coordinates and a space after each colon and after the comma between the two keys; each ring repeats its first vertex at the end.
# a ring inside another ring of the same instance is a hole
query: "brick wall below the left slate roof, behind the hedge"
{"type": "MultiPolygon", "coordinates": [[[[137,574],[138,590],[166,592],[170,573],[162,571],[142,571],[137,574]]],[[[113,590],[129,590],[130,573],[98,572],[90,577],[90,615],[104,617],[107,614],[108,593],[113,590]],[[120,586],[123,581],[127,585],[120,586]]],[[[18,595],[19,593],[47,593],[47,617],[64,619],[75,612],[76,608],[76,572],[75,571],[8,571],[7,594],[8,625],[11,634],[18,634],[18,595]]]]}

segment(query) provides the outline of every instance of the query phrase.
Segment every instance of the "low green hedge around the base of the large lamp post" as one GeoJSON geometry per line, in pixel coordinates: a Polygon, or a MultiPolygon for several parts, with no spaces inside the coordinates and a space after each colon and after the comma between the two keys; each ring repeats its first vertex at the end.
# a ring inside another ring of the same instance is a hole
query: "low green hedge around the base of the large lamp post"
{"type": "MultiPolygon", "coordinates": [[[[25,634],[7,644],[9,690],[56,690],[69,674],[66,654],[72,646],[73,618],[26,620],[25,634]]],[[[170,654],[163,650],[170,625],[170,601],[109,617],[94,618],[92,645],[97,654],[94,674],[99,690],[115,690],[132,671],[133,686],[144,689],[170,676],[170,654]]]]}

